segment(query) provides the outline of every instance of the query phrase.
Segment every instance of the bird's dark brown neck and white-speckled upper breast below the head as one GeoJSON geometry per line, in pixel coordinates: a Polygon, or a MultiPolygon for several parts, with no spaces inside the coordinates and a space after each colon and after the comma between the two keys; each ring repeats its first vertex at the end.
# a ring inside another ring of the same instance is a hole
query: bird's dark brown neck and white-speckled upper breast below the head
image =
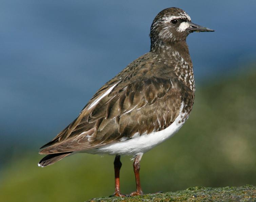
{"type": "Polygon", "coordinates": [[[166,42],[158,41],[151,44],[152,53],[157,55],[159,62],[163,62],[174,72],[178,80],[195,92],[193,65],[189,55],[189,48],[185,40],[166,42]]]}

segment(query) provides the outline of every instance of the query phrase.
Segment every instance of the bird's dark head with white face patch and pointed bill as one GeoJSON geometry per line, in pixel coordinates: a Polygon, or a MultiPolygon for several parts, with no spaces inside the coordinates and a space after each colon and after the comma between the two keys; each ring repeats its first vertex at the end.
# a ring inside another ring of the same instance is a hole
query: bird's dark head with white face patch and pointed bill
{"type": "Polygon", "coordinates": [[[185,40],[192,32],[214,32],[214,30],[194,24],[190,16],[180,8],[166,8],[153,20],[150,29],[151,45],[159,41],[174,43],[185,40]]]}

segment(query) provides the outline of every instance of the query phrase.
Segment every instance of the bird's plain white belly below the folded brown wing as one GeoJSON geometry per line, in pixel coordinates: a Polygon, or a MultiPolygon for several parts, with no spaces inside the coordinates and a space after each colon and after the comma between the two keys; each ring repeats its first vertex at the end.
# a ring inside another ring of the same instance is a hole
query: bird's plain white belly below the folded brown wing
{"type": "Polygon", "coordinates": [[[116,143],[112,143],[106,146],[101,146],[97,149],[86,150],[84,152],[90,154],[110,154],[110,155],[137,155],[137,154],[144,154],[145,152],[149,151],[156,145],[162,143],[166,139],[170,138],[174,135],[180,127],[183,125],[184,122],[180,122],[184,117],[182,113],[182,109],[184,104],[182,103],[180,107],[180,112],[178,117],[175,121],[167,128],[158,131],[152,132],[150,134],[145,134],[141,136],[136,136],[132,139],[120,141],[116,143]]]}

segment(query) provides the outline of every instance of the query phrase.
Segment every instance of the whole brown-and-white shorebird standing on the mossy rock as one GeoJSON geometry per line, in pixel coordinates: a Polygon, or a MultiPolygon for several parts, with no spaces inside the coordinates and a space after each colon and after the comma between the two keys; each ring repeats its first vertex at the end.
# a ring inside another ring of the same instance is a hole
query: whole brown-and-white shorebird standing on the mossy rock
{"type": "Polygon", "coordinates": [[[102,86],[79,116],[39,154],[38,166],[51,165],[74,153],[116,155],[115,193],[119,189],[120,155],[134,156],[136,191],[143,194],[139,170],[142,155],[175,134],[194,102],[193,65],[186,37],[214,30],[191,22],[180,8],[166,8],[153,20],[150,52],[137,58],[102,86]]]}

